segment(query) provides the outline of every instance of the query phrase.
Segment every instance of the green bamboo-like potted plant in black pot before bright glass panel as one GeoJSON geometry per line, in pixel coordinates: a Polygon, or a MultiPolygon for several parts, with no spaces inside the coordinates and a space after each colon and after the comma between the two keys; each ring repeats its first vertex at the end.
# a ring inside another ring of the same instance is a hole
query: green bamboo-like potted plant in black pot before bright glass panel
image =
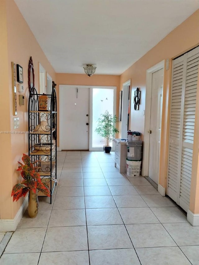
{"type": "Polygon", "coordinates": [[[112,142],[114,134],[119,132],[115,127],[115,124],[118,122],[118,118],[116,115],[113,116],[108,112],[108,110],[106,110],[100,115],[100,118],[97,120],[97,122],[98,124],[95,128],[95,132],[104,137],[104,151],[105,153],[110,153],[111,147],[109,146],[109,143],[112,142]]]}

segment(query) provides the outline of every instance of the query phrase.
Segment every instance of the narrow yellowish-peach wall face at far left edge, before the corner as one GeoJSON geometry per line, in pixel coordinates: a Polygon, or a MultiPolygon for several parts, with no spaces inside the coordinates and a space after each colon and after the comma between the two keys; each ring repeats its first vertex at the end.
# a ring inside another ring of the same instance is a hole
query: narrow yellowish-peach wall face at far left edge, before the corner
{"type": "MultiPolygon", "coordinates": [[[[8,51],[7,51],[7,18],[6,18],[6,1],[0,1],[0,131],[10,131],[10,93],[8,89],[9,71],[8,71],[8,51]]],[[[10,66],[10,65],[9,65],[10,66]]],[[[11,66],[10,66],[11,67],[11,66]]],[[[11,211],[10,196],[7,193],[7,187],[11,186],[12,154],[11,154],[11,135],[0,133],[0,219],[4,216],[3,207],[11,211]],[[9,196],[9,198],[7,198],[9,196]]],[[[10,216],[10,215],[9,215],[10,216]]]]}

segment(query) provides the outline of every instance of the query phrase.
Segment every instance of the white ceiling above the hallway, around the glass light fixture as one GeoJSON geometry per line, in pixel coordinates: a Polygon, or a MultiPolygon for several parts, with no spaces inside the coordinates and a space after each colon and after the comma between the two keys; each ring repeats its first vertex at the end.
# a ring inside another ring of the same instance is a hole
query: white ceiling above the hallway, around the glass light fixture
{"type": "MultiPolygon", "coordinates": [[[[120,75],[199,8],[199,0],[15,0],[57,73],[120,75]]],[[[34,60],[34,58],[33,58],[34,60]]]]}

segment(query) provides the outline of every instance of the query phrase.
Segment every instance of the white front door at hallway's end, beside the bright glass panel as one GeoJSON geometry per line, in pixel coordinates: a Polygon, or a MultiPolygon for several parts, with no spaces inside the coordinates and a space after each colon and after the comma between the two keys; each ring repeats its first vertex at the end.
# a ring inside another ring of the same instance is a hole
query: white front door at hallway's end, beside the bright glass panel
{"type": "Polygon", "coordinates": [[[59,85],[61,150],[89,149],[89,91],[84,86],[59,85]]]}

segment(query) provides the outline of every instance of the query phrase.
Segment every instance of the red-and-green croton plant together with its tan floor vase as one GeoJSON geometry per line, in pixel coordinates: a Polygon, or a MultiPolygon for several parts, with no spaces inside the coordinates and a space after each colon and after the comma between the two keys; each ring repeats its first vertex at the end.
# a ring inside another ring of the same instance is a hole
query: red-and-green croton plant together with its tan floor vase
{"type": "MultiPolygon", "coordinates": [[[[23,154],[22,161],[24,165],[18,161],[20,164],[17,171],[21,171],[21,176],[23,178],[21,183],[17,183],[12,188],[11,196],[13,196],[13,201],[19,200],[22,196],[29,191],[29,203],[28,203],[28,214],[30,218],[35,218],[38,213],[38,197],[37,191],[41,191],[44,195],[50,197],[50,190],[47,183],[41,181],[41,176],[38,173],[39,167],[34,166],[34,163],[31,163],[30,157],[26,154],[23,154]]],[[[54,178],[49,178],[57,182],[54,178]]]]}

